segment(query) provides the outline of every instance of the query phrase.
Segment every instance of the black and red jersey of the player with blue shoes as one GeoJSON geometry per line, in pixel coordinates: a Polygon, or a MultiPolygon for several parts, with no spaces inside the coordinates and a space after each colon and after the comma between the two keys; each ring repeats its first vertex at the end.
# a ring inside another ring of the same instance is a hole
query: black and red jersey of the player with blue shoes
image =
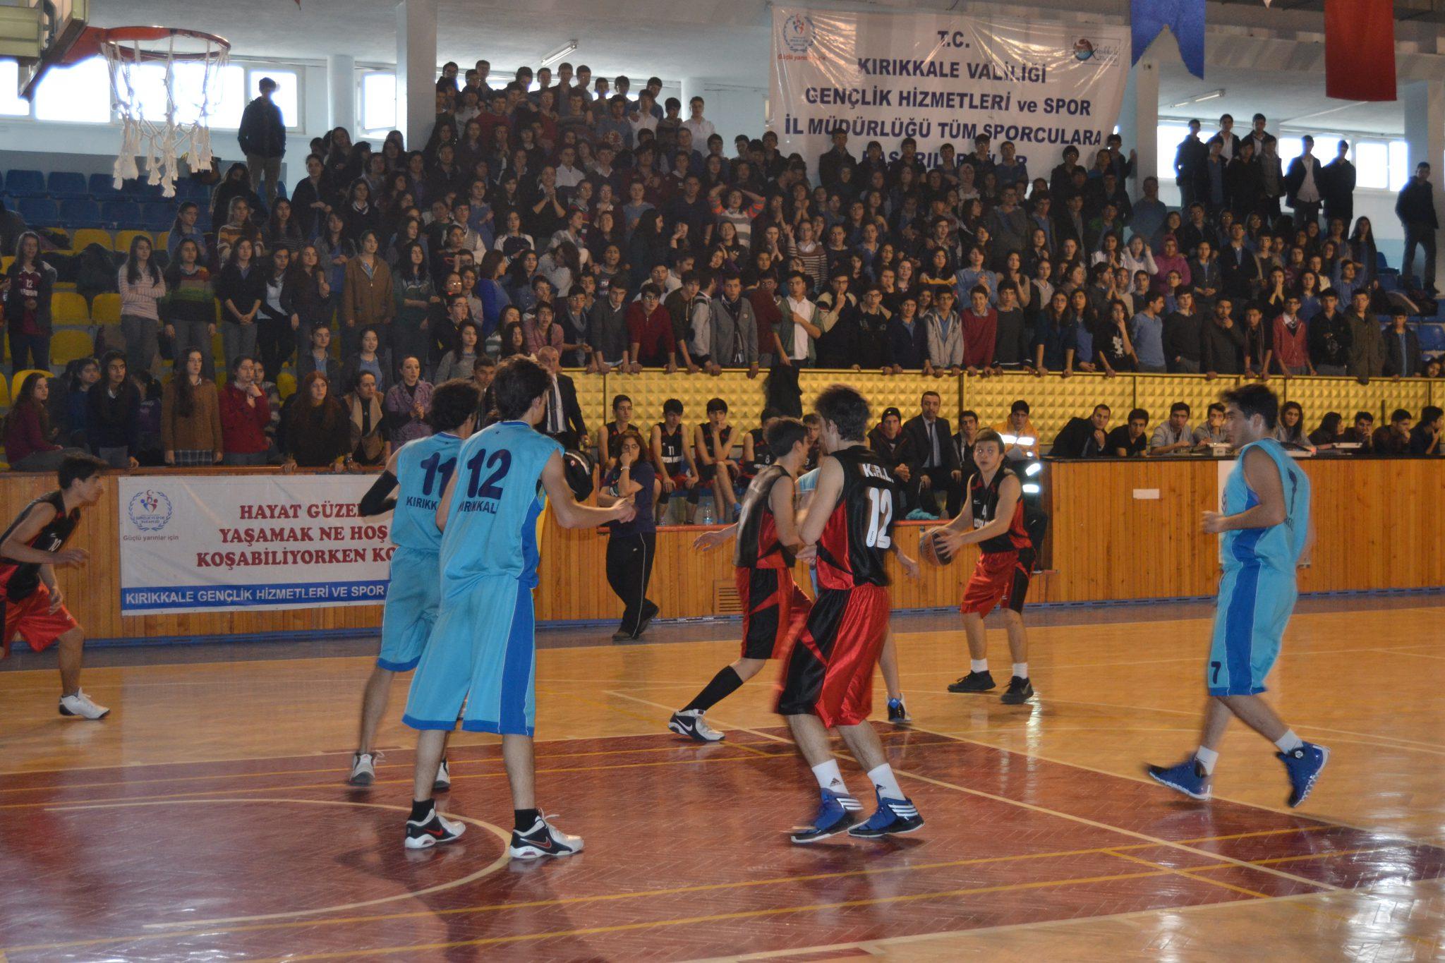
{"type": "Polygon", "coordinates": [[[887,585],[883,556],[893,547],[897,485],[877,453],[853,445],[831,456],[842,466],[838,504],[818,540],[818,585],[851,589],[887,585]]]}

